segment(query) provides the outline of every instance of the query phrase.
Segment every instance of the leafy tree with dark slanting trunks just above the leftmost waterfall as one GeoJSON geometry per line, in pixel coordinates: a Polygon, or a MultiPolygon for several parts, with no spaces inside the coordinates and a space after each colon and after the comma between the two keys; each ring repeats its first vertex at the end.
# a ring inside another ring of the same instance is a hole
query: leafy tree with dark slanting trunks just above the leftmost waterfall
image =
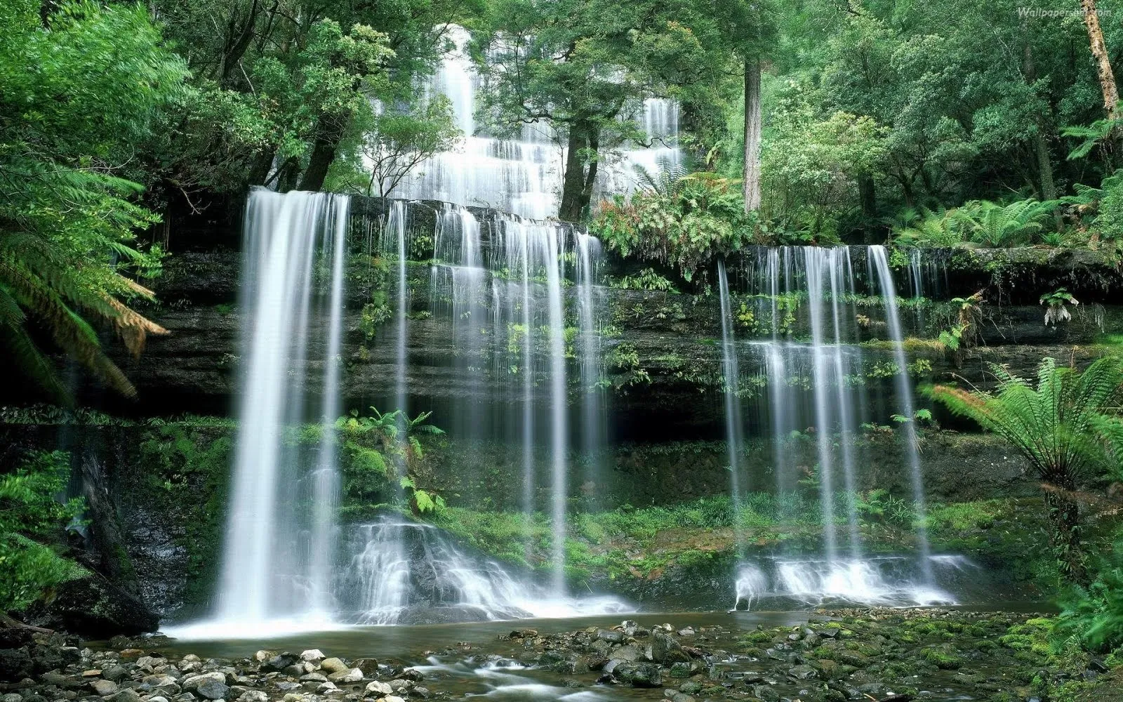
{"type": "Polygon", "coordinates": [[[372,101],[412,101],[446,49],[450,22],[480,11],[478,0],[155,7],[190,57],[193,94],[166,116],[148,151],[154,181],[189,198],[250,184],[318,190],[337,161],[357,170],[376,129],[372,101]]]}

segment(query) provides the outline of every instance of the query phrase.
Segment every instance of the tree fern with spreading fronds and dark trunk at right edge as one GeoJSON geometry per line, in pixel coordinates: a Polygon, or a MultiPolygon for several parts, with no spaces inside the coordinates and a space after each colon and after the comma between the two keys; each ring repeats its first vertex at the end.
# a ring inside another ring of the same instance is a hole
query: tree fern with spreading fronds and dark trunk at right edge
{"type": "Polygon", "coordinates": [[[992,364],[994,394],[937,385],[931,394],[1016,448],[1042,481],[1052,545],[1065,574],[1087,584],[1075,494],[1096,473],[1119,469],[1123,423],[1112,414],[1123,391],[1123,362],[1101,358],[1083,373],[1046,358],[1033,388],[992,364]]]}

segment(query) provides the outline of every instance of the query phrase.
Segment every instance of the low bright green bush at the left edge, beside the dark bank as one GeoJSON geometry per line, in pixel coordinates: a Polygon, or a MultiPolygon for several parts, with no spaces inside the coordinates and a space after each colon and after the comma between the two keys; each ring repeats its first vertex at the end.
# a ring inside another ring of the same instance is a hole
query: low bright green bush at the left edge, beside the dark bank
{"type": "Polygon", "coordinates": [[[85,573],[51,546],[82,513],[81,499],[55,500],[69,475],[69,454],[55,452],[30,454],[0,476],[0,612],[24,609],[85,573]]]}

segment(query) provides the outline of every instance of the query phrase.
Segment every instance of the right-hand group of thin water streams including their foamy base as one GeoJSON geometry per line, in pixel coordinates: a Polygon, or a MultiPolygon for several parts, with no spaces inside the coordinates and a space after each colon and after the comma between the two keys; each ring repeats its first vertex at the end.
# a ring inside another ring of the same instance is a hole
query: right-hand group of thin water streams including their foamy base
{"type": "MultiPolygon", "coordinates": [[[[884,322],[870,320],[855,307],[860,295],[848,247],[758,249],[755,256],[748,256],[743,273],[749,297],[741,302],[736,317],[727,272],[723,265],[719,266],[725,375],[728,377],[730,368],[740,363],[742,373],[749,367],[750,372],[756,368],[763,376],[758,386],[765,385],[767,391],[761,414],[772,428],[776,485],[782,494],[791,493],[800,477],[792,473],[794,466],[785,441],[792,432],[813,427],[818,464],[813,474],[802,480],[807,482],[810,477],[819,485],[823,527],[821,558],[776,557],[768,567],[759,563],[743,564],[737,582],[738,603],[769,595],[801,601],[950,601],[949,595],[934,586],[934,559],[923,528],[923,484],[915,428],[911,421],[905,422],[903,434],[914,507],[919,512],[917,557],[911,562],[884,560],[866,558],[862,553],[855,440],[858,426],[864,421],[860,412],[868,404],[868,398],[864,357],[857,343],[861,334],[870,331],[859,329],[860,325],[884,327],[886,340],[893,347],[894,363],[889,364],[889,370],[895,379],[898,410],[904,417],[913,416],[892,272],[884,247],[864,250],[869,265],[866,284],[882,294],[884,322]],[[757,338],[732,343],[730,330],[738,320],[757,338]],[[749,356],[747,364],[739,361],[741,354],[749,356]],[[842,513],[846,516],[844,541],[840,538],[839,517],[842,513]],[[902,575],[909,571],[906,562],[914,566],[907,577],[902,575]],[[893,567],[888,568],[887,564],[893,567]]],[[[741,400],[734,396],[737,388],[727,381],[727,426],[731,447],[743,440],[741,400]]],[[[734,494],[734,505],[738,502],[734,494]]]]}

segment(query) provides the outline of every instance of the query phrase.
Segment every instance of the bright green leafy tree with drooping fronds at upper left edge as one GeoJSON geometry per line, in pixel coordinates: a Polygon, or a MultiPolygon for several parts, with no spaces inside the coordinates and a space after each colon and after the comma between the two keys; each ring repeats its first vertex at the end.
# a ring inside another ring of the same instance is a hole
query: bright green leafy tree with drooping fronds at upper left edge
{"type": "Polygon", "coordinates": [[[164,329],[126,302],[150,299],[137,277],[161,252],[136,231],[157,218],[120,177],[182,86],[182,62],[136,7],[70,2],[39,16],[24,0],[4,17],[0,45],[0,341],[56,399],[69,392],[37,339],[46,332],[126,395],[104,354],[111,328],[134,354],[164,329]],[[28,70],[35,66],[35,70],[28,70]]]}

